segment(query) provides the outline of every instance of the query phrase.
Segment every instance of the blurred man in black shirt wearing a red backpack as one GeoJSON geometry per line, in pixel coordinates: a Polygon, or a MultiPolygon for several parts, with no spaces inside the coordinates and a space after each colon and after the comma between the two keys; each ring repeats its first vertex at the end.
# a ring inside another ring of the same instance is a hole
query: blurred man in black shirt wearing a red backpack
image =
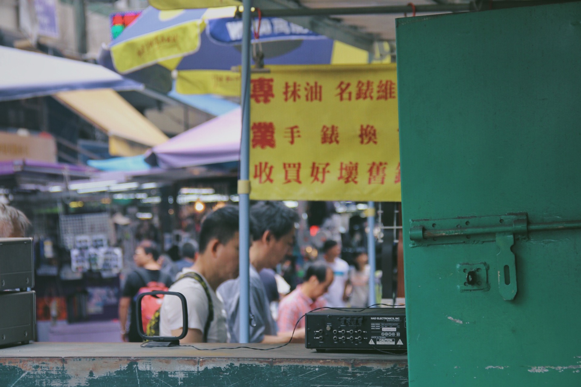
{"type": "Polygon", "coordinates": [[[121,339],[123,341],[143,341],[141,336],[139,336],[137,327],[137,313],[141,313],[141,310],[137,309],[134,299],[139,289],[146,287],[151,282],[163,283],[166,286],[171,285],[171,277],[160,272],[161,265],[158,260],[159,250],[153,241],[142,241],[135,248],[133,261],[137,265],[137,269],[128,274],[119,299],[119,324],[121,325],[121,339]],[[131,315],[129,330],[127,330],[128,312],[131,315]]]}

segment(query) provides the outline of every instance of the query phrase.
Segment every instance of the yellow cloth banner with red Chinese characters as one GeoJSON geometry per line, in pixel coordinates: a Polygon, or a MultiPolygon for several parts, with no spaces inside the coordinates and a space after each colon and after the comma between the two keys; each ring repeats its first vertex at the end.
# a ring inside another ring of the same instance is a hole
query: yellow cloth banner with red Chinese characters
{"type": "Polygon", "coordinates": [[[252,74],[250,197],[401,201],[395,64],[252,74]]]}

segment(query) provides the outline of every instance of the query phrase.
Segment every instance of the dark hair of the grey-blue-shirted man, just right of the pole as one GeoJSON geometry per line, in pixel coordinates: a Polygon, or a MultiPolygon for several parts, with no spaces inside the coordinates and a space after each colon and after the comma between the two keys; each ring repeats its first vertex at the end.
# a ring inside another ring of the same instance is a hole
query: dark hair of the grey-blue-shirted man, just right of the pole
{"type": "Polygon", "coordinates": [[[261,201],[250,207],[250,215],[254,219],[253,240],[262,238],[270,231],[275,238],[288,234],[299,222],[299,215],[279,201],[261,201]]]}

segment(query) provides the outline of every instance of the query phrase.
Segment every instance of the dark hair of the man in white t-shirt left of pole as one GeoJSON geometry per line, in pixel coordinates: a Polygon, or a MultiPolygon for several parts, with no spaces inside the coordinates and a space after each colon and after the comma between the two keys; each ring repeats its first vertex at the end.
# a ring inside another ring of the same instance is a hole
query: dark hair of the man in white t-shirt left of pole
{"type": "Polygon", "coordinates": [[[228,244],[237,231],[238,207],[227,205],[210,212],[202,222],[202,230],[200,230],[200,252],[206,251],[208,243],[213,238],[217,238],[223,245],[228,244]]]}

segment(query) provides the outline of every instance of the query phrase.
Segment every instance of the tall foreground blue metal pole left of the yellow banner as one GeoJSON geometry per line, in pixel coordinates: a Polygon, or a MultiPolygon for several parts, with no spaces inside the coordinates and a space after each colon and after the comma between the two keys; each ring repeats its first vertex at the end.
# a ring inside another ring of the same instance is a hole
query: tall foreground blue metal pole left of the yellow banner
{"type": "Polygon", "coordinates": [[[241,343],[249,342],[250,335],[250,279],[249,279],[249,248],[250,248],[250,9],[252,0],[243,0],[244,10],[242,12],[242,140],[240,144],[240,182],[238,193],[240,197],[240,305],[238,313],[240,316],[240,336],[241,343]]]}

